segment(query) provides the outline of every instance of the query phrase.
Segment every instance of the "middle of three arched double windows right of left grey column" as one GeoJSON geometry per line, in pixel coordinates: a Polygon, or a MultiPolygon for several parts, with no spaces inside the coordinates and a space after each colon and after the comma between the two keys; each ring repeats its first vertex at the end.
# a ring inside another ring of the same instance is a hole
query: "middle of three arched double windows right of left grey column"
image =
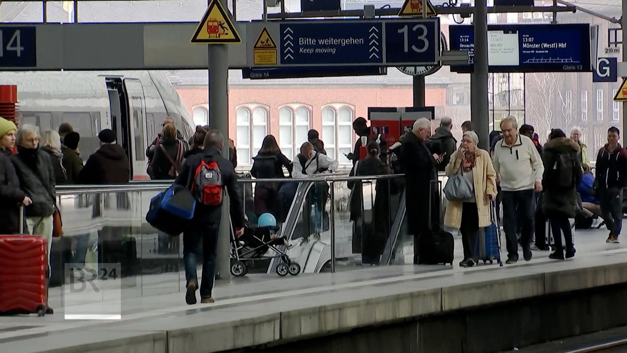
{"type": "Polygon", "coordinates": [[[307,141],[310,113],[305,107],[296,111],[284,107],[279,110],[279,147],[281,152],[292,159],[300,149],[300,145],[307,141]]]}

